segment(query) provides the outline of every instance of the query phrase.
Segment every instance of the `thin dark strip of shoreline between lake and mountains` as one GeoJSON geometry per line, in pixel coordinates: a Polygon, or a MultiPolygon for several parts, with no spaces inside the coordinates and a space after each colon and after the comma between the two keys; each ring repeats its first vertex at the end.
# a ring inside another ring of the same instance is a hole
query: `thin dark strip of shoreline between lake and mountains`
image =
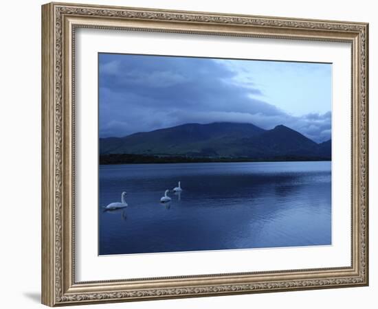
{"type": "Polygon", "coordinates": [[[227,157],[181,157],[113,154],[100,155],[100,165],[118,164],[164,164],[164,163],[232,163],[232,162],[293,162],[293,161],[331,161],[330,157],[277,156],[269,158],[227,158],[227,157]]]}

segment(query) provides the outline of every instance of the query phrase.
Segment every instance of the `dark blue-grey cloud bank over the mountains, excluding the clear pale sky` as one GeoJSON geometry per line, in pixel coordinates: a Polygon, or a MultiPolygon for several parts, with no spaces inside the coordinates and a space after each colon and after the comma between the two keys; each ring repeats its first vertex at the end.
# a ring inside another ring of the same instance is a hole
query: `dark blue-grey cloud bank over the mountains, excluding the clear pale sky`
{"type": "Polygon", "coordinates": [[[315,141],[331,136],[331,113],[288,115],[208,58],[100,54],[99,65],[100,137],[225,121],[285,124],[315,141]]]}

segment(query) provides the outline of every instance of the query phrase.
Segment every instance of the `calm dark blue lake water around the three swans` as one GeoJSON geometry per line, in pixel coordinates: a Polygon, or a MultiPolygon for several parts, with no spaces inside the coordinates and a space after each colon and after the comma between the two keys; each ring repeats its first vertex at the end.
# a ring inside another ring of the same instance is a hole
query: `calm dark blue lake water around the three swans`
{"type": "Polygon", "coordinates": [[[331,244],[331,162],[100,165],[99,227],[100,255],[331,244]]]}

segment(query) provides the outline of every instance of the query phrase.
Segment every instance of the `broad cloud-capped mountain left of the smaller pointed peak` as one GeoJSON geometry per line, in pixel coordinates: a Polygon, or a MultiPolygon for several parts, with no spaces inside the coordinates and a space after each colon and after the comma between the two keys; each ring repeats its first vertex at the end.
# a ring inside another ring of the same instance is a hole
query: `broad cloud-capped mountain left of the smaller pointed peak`
{"type": "Polygon", "coordinates": [[[253,124],[214,122],[183,124],[121,138],[100,139],[100,154],[230,156],[225,148],[233,141],[260,135],[265,130],[253,124]]]}

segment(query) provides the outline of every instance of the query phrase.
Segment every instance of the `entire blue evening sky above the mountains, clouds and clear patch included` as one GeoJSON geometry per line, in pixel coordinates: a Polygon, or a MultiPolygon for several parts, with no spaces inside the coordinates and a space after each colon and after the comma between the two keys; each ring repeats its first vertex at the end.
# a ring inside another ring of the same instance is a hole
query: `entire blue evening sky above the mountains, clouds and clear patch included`
{"type": "Polygon", "coordinates": [[[331,139],[331,64],[102,53],[98,61],[100,137],[241,122],[331,139]]]}

